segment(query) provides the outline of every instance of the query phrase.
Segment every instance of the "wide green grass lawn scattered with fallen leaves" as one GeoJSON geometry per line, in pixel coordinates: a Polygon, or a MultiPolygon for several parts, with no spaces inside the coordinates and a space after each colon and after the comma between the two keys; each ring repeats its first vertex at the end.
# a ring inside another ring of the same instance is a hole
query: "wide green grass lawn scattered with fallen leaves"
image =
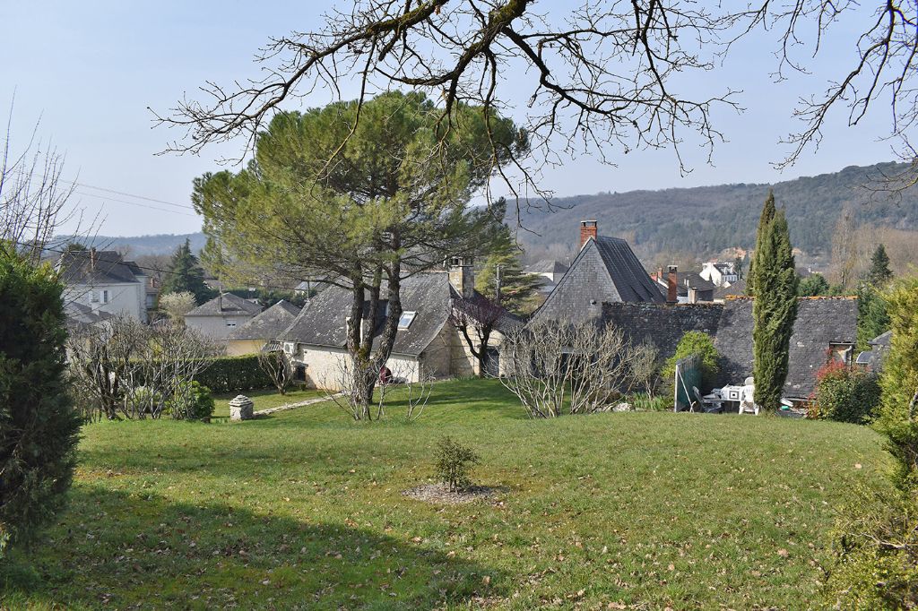
{"type": "Polygon", "coordinates": [[[890,465],[868,428],[535,421],[494,381],[439,384],[413,424],[389,412],[87,426],[69,508],[14,557],[0,607],[806,608],[834,508],[890,465]],[[446,434],[496,499],[401,494],[446,434]]]}

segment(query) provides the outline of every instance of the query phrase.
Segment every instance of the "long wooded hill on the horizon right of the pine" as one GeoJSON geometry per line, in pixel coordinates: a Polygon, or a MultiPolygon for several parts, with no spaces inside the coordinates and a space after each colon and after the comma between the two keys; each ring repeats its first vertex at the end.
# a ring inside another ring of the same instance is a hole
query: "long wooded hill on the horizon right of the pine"
{"type": "Polygon", "coordinates": [[[832,249],[833,230],[846,206],[856,225],[918,229],[918,189],[898,197],[864,187],[904,166],[879,163],[841,172],[801,177],[775,184],[722,184],[661,191],[576,195],[554,200],[553,213],[532,210],[523,216],[526,250],[539,258],[560,256],[577,247],[579,221],[599,221],[599,232],[628,239],[638,256],[686,252],[710,257],[738,246],[750,248],[769,186],[778,206],[786,206],[790,238],[796,248],[819,256],[832,249]]]}

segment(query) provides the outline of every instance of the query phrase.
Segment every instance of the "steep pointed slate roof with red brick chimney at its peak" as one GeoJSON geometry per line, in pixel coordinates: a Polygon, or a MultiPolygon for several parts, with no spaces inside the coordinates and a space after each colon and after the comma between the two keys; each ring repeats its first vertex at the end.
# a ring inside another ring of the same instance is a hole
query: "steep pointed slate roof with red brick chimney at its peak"
{"type": "Polygon", "coordinates": [[[598,317],[602,304],[613,302],[665,303],[666,299],[628,242],[603,236],[588,240],[532,318],[598,317]]]}

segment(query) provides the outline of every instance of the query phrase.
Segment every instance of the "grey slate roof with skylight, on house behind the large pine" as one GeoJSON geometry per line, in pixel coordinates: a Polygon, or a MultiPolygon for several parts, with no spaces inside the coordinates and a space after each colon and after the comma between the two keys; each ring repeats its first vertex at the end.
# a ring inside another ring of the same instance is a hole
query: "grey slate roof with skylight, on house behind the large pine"
{"type": "MultiPolygon", "coordinates": [[[[402,310],[417,312],[417,316],[409,328],[397,332],[392,351],[420,356],[446,324],[450,298],[455,291],[446,272],[425,272],[403,280],[400,293],[402,310]]],[[[308,301],[278,339],[309,346],[344,348],[347,344],[345,325],[352,298],[350,290],[329,286],[308,301]]],[[[382,332],[382,322],[383,318],[376,321],[376,339],[382,332]]]]}

